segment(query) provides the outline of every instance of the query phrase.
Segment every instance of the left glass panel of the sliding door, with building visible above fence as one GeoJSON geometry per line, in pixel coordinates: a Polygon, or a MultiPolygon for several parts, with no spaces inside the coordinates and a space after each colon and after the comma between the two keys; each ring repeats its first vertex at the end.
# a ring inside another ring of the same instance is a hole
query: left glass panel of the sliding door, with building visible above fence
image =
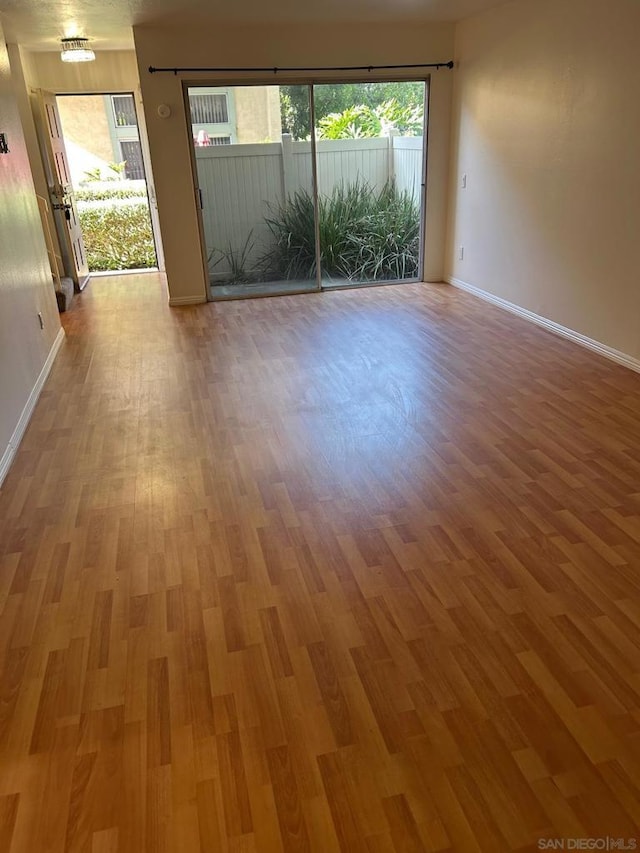
{"type": "Polygon", "coordinates": [[[188,98],[211,297],[317,290],[310,87],[188,98]]]}

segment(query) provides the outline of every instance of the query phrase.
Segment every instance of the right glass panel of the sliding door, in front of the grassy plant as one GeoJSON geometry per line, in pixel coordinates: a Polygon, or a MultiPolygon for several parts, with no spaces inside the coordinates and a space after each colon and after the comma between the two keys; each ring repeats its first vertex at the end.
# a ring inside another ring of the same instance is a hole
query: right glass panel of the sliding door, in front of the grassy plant
{"type": "Polygon", "coordinates": [[[323,287],[422,277],[425,85],[314,85],[323,287]]]}

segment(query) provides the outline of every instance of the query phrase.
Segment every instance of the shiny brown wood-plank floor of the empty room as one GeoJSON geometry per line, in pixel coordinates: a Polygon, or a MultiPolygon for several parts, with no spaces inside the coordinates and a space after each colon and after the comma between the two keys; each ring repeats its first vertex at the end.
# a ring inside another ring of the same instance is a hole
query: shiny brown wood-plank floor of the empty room
{"type": "Polygon", "coordinates": [[[76,299],[0,492],[0,851],[640,846],[640,376],[158,282],[76,299]]]}

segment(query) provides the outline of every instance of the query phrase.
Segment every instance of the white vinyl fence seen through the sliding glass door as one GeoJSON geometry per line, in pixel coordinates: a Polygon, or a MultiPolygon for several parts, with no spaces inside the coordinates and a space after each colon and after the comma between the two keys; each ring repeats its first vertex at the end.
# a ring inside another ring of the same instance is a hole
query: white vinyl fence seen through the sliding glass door
{"type": "MultiPolygon", "coordinates": [[[[357,180],[380,189],[395,180],[420,203],[423,138],[388,136],[375,139],[322,139],[317,142],[318,191],[357,180]]],[[[284,134],[282,142],[212,145],[195,149],[207,253],[239,255],[248,241],[247,268],[264,252],[270,239],[265,217],[297,191],[312,189],[311,143],[284,134]]],[[[224,277],[226,260],[213,269],[224,277]]]]}

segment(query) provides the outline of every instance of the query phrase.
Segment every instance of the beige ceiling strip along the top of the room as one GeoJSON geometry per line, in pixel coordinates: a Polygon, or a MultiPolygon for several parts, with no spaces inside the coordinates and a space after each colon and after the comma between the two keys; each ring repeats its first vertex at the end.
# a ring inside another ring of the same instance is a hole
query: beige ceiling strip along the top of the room
{"type": "Polygon", "coordinates": [[[134,24],[269,21],[458,21],[504,0],[0,0],[7,42],[56,50],[60,38],[84,36],[93,47],[133,46],[134,24]]]}

